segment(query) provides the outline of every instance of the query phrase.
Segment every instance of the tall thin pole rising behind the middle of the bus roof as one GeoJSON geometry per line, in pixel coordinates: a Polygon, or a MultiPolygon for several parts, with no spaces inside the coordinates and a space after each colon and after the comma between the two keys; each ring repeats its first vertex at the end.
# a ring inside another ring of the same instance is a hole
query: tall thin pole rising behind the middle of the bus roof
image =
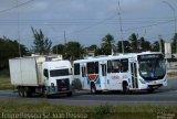
{"type": "Polygon", "coordinates": [[[124,36],[123,36],[123,26],[122,26],[122,17],[121,17],[121,4],[118,0],[118,17],[119,17],[119,29],[121,29],[121,40],[122,40],[122,52],[124,54],[124,36]]]}

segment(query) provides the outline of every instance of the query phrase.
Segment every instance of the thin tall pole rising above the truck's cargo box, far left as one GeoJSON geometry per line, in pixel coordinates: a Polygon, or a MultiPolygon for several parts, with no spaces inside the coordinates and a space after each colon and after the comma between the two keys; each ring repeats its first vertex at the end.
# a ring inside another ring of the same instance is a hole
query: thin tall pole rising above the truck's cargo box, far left
{"type": "Polygon", "coordinates": [[[21,57],[21,47],[20,47],[20,14],[19,14],[19,0],[17,0],[17,13],[18,13],[18,41],[19,41],[19,56],[21,57]]]}

